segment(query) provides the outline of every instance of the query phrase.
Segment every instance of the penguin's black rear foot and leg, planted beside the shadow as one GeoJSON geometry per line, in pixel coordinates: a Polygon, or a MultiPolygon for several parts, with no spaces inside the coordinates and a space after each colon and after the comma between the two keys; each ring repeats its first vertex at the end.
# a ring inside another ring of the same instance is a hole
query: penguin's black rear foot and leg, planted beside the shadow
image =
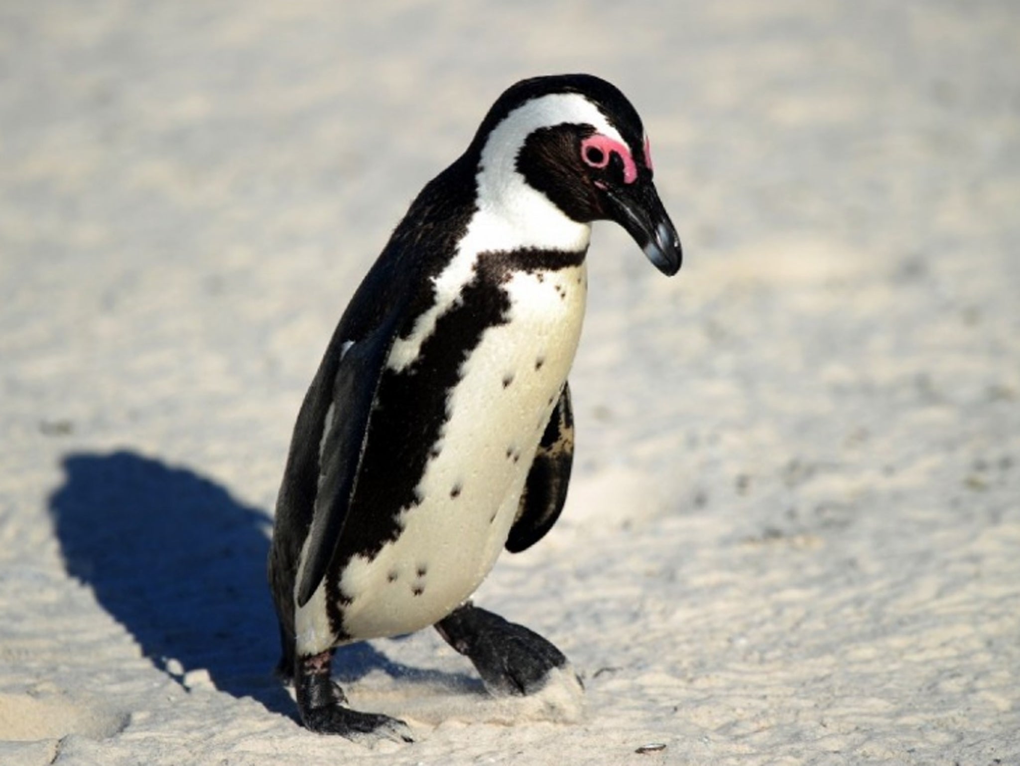
{"type": "Polygon", "coordinates": [[[411,730],[403,721],[380,713],[360,713],[345,708],[347,697],[333,678],[329,666],[333,651],[298,660],[294,683],[298,692],[301,720],[311,731],[340,734],[355,741],[375,739],[413,743],[411,730]]]}

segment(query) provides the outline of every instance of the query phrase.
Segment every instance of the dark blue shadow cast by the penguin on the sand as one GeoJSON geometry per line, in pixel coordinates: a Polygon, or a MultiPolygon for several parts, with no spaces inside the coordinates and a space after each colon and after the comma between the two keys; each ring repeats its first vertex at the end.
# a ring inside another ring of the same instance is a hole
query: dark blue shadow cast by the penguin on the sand
{"type": "MultiPolygon", "coordinates": [[[[271,672],[279,643],[265,577],[269,517],[210,479],[136,452],[73,453],[63,470],[50,514],[67,574],[89,585],[145,656],[183,686],[189,671],[205,669],[220,691],[296,718],[271,672]]],[[[337,659],[345,682],[380,670],[462,685],[367,643],[337,659]]]]}

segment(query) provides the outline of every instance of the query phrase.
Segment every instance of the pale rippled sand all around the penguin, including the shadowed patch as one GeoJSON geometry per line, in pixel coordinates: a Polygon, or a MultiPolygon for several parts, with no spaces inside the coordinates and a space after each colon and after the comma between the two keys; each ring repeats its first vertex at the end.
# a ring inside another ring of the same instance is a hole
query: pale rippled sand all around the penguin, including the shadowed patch
{"type": "Polygon", "coordinates": [[[1020,764],[1020,5],[0,6],[0,763],[1020,764]],[[597,228],[565,517],[294,720],[263,558],[325,341],[504,87],[652,136],[674,280],[597,228]],[[664,749],[636,753],[642,746],[664,749]]]}

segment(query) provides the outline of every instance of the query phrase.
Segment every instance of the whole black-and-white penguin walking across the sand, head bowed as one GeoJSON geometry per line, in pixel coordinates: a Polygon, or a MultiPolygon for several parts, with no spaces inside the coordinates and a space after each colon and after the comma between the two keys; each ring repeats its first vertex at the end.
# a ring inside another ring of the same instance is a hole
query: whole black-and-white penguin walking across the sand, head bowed
{"type": "Polygon", "coordinates": [[[330,663],[429,625],[494,695],[572,675],[550,641],[470,597],[563,509],[592,223],[615,221],[667,276],[680,267],[652,174],[615,86],[523,80],[355,291],[301,404],[268,557],[277,672],[308,729],[411,741],[403,721],[348,707],[330,663]]]}

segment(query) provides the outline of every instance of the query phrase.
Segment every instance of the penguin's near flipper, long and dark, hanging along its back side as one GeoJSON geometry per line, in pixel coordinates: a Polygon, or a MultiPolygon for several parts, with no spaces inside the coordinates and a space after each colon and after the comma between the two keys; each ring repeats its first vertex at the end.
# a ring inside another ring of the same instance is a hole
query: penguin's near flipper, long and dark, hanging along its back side
{"type": "Polygon", "coordinates": [[[344,531],[365,452],[368,420],[395,338],[396,332],[382,326],[357,342],[346,343],[341,351],[319,448],[318,491],[298,588],[299,607],[308,603],[322,582],[344,531]]]}

